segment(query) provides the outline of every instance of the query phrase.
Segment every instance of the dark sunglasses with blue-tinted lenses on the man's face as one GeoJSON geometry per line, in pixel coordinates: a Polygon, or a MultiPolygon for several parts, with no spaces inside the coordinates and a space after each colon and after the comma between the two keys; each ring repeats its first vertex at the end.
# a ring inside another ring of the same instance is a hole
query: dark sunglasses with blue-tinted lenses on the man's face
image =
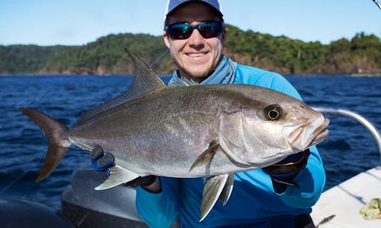
{"type": "Polygon", "coordinates": [[[191,37],[193,30],[198,30],[205,39],[217,37],[221,34],[224,23],[221,21],[208,20],[198,25],[190,25],[188,23],[174,23],[166,25],[164,30],[169,34],[171,39],[188,39],[191,37]]]}

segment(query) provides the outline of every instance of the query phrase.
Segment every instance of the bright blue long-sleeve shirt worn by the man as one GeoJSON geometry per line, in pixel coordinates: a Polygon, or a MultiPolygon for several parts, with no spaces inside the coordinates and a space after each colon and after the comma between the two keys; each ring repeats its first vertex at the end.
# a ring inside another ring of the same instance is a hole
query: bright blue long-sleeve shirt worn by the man
{"type": "MultiPolygon", "coordinates": [[[[301,99],[296,89],[274,72],[237,65],[234,83],[267,87],[301,99]]],[[[160,177],[162,191],[150,193],[137,188],[136,208],[150,227],[169,227],[180,216],[181,227],[222,227],[250,224],[265,227],[293,227],[294,216],[310,213],[325,185],[325,170],[317,148],[310,148],[308,163],[294,181],[300,188],[287,186],[282,194],[274,193],[271,179],[262,170],[238,172],[234,189],[226,205],[214,205],[205,220],[200,220],[203,179],[160,177]]]]}

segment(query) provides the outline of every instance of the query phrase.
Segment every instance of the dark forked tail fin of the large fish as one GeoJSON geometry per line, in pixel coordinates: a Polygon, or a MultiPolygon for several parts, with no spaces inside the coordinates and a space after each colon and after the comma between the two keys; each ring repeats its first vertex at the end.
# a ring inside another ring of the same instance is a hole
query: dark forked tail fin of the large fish
{"type": "Polygon", "coordinates": [[[37,177],[36,182],[48,177],[59,165],[66,151],[71,145],[71,141],[66,137],[61,137],[63,132],[68,131],[68,127],[54,120],[49,115],[41,113],[33,108],[18,108],[22,113],[33,120],[44,132],[49,141],[47,156],[44,165],[37,177]]]}

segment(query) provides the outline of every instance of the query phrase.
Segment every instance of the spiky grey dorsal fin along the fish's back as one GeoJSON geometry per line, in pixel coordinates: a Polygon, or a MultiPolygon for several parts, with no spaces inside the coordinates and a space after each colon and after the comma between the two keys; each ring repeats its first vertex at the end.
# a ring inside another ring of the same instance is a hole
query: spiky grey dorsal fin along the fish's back
{"type": "Polygon", "coordinates": [[[145,94],[149,94],[152,91],[158,91],[160,89],[164,89],[167,86],[160,80],[159,76],[147,65],[145,64],[138,56],[135,55],[132,51],[128,49],[124,49],[128,53],[128,55],[133,59],[135,64],[134,69],[134,79],[133,84],[131,84],[130,89],[125,93],[116,96],[114,99],[106,101],[101,105],[88,110],[84,113],[78,120],[75,122],[73,127],[77,127],[78,125],[83,124],[87,120],[104,113],[105,111],[115,108],[116,106],[120,106],[123,103],[131,101],[133,99],[138,98],[139,96],[143,96],[145,94]]]}

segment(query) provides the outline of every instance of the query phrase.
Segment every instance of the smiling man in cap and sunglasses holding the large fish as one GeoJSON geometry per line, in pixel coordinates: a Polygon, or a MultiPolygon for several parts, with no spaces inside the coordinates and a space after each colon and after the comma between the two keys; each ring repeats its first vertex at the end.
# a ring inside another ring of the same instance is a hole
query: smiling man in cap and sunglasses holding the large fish
{"type": "MultiPolygon", "coordinates": [[[[281,75],[223,55],[226,27],[219,1],[169,0],[165,16],[164,42],[179,68],[169,85],[255,84],[301,99],[281,75]]],[[[138,185],[136,208],[150,227],[169,227],[177,217],[181,227],[313,227],[308,213],[324,187],[325,170],[314,146],[262,170],[236,173],[229,201],[217,201],[202,222],[202,178],[148,176],[128,184],[138,185]]]]}

